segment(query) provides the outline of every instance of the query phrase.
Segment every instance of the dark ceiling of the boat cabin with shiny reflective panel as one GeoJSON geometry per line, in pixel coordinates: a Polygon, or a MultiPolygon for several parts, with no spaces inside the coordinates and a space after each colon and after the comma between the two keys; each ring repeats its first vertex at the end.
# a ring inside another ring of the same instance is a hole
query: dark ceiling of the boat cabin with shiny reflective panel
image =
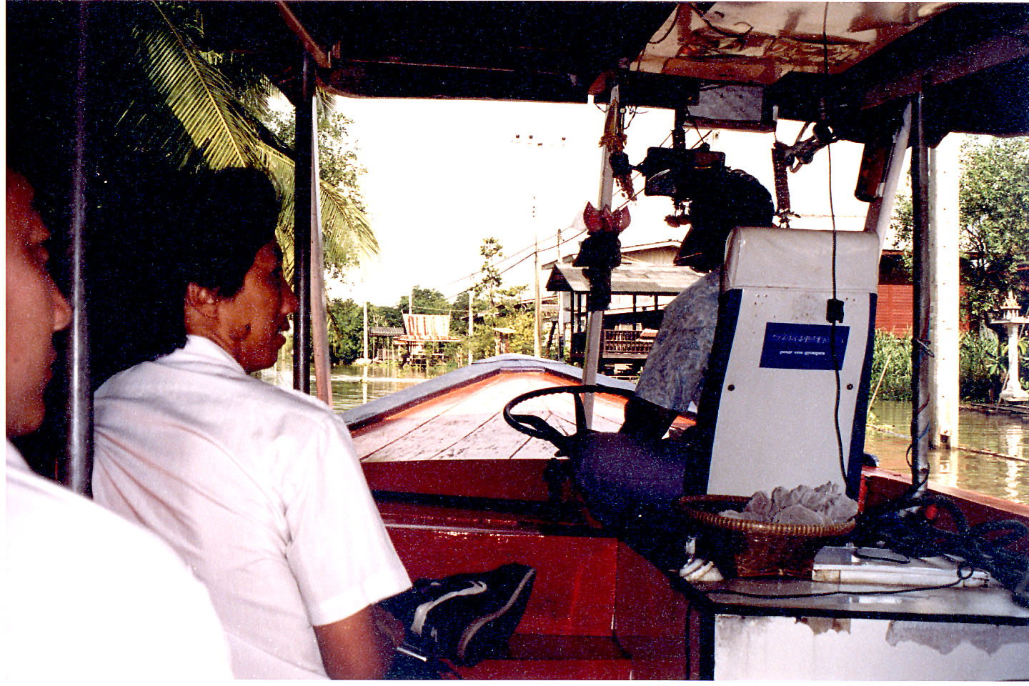
{"type": "Polygon", "coordinates": [[[774,106],[863,141],[924,88],[930,141],[1029,134],[1025,3],[204,5],[212,46],[257,53],[291,99],[306,36],[319,81],[346,96],[584,103],[617,82],[625,105],[708,125],[767,130],[774,106]]]}

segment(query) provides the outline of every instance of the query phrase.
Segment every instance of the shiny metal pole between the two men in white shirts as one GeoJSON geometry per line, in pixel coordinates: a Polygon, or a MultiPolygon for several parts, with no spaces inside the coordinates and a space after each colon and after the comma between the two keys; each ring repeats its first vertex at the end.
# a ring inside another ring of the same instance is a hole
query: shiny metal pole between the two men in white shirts
{"type": "Polygon", "coordinates": [[[93,496],[93,394],[90,389],[90,327],[85,309],[85,103],[88,58],[90,3],[78,6],[78,45],[75,67],[75,156],[72,160],[71,324],[68,351],[68,435],[65,461],[58,470],[61,482],[75,493],[93,496]]]}

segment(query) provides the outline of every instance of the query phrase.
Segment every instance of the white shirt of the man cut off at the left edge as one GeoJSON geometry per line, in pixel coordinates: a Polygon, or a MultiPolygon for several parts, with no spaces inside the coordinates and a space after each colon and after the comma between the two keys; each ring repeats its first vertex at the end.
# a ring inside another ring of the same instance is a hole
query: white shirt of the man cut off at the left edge
{"type": "Polygon", "coordinates": [[[232,679],[207,590],[163,541],[33,473],[6,447],[10,683],[232,679]]]}

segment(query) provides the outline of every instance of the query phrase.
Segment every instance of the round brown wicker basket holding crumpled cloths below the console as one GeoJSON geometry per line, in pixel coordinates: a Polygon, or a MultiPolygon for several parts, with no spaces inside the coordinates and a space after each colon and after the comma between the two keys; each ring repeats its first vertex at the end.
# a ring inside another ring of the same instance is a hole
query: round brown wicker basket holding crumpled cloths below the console
{"type": "Polygon", "coordinates": [[[815,553],[832,538],[845,536],[854,522],[826,527],[780,525],[725,517],[740,511],[749,498],[686,496],[680,501],[686,516],[700,526],[698,550],[707,554],[726,578],[735,576],[810,577],[815,553]]]}

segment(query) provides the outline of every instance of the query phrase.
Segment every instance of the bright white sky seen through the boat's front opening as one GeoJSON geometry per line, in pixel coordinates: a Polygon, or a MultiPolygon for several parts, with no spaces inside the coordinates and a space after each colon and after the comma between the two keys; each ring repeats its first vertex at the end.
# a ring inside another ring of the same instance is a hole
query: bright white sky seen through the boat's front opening
{"type": "MultiPolygon", "coordinates": [[[[482,265],[478,249],[487,237],[500,241],[504,256],[529,255],[503,279],[505,287],[528,285],[531,296],[534,238],[540,264],[554,260],[558,229],[567,238],[587,201],[597,204],[604,113],[594,105],[343,99],[341,110],[354,122],[349,131],[367,170],[361,190],[381,252],[363,285],[332,285],[333,297],[394,305],[420,286],[452,298],[467,290],[469,275],[482,265]]],[[[669,110],[636,115],[627,131],[632,164],[647,147],[671,145],[672,117],[669,110]]],[[[779,139],[792,143],[800,127],[782,122],[779,139]]],[[[687,133],[687,145],[697,140],[696,132],[687,133]]],[[[725,152],[730,167],[757,177],[774,197],[773,135],[719,132],[708,140],[725,152]]],[[[837,226],[859,228],[867,207],[854,200],[860,146],[837,143],[831,151],[837,226]]],[[[796,227],[829,227],[827,158],[822,150],[814,164],[789,175],[793,211],[809,217],[796,227]]],[[[642,179],[635,184],[639,189],[642,179]]],[[[615,189],[615,208],[624,202],[615,189]]],[[[641,193],[630,206],[633,221],[622,245],[681,240],[685,229],[664,221],[672,209],[670,198],[641,193]]],[[[580,240],[566,244],[562,254],[577,252],[580,240]]]]}

